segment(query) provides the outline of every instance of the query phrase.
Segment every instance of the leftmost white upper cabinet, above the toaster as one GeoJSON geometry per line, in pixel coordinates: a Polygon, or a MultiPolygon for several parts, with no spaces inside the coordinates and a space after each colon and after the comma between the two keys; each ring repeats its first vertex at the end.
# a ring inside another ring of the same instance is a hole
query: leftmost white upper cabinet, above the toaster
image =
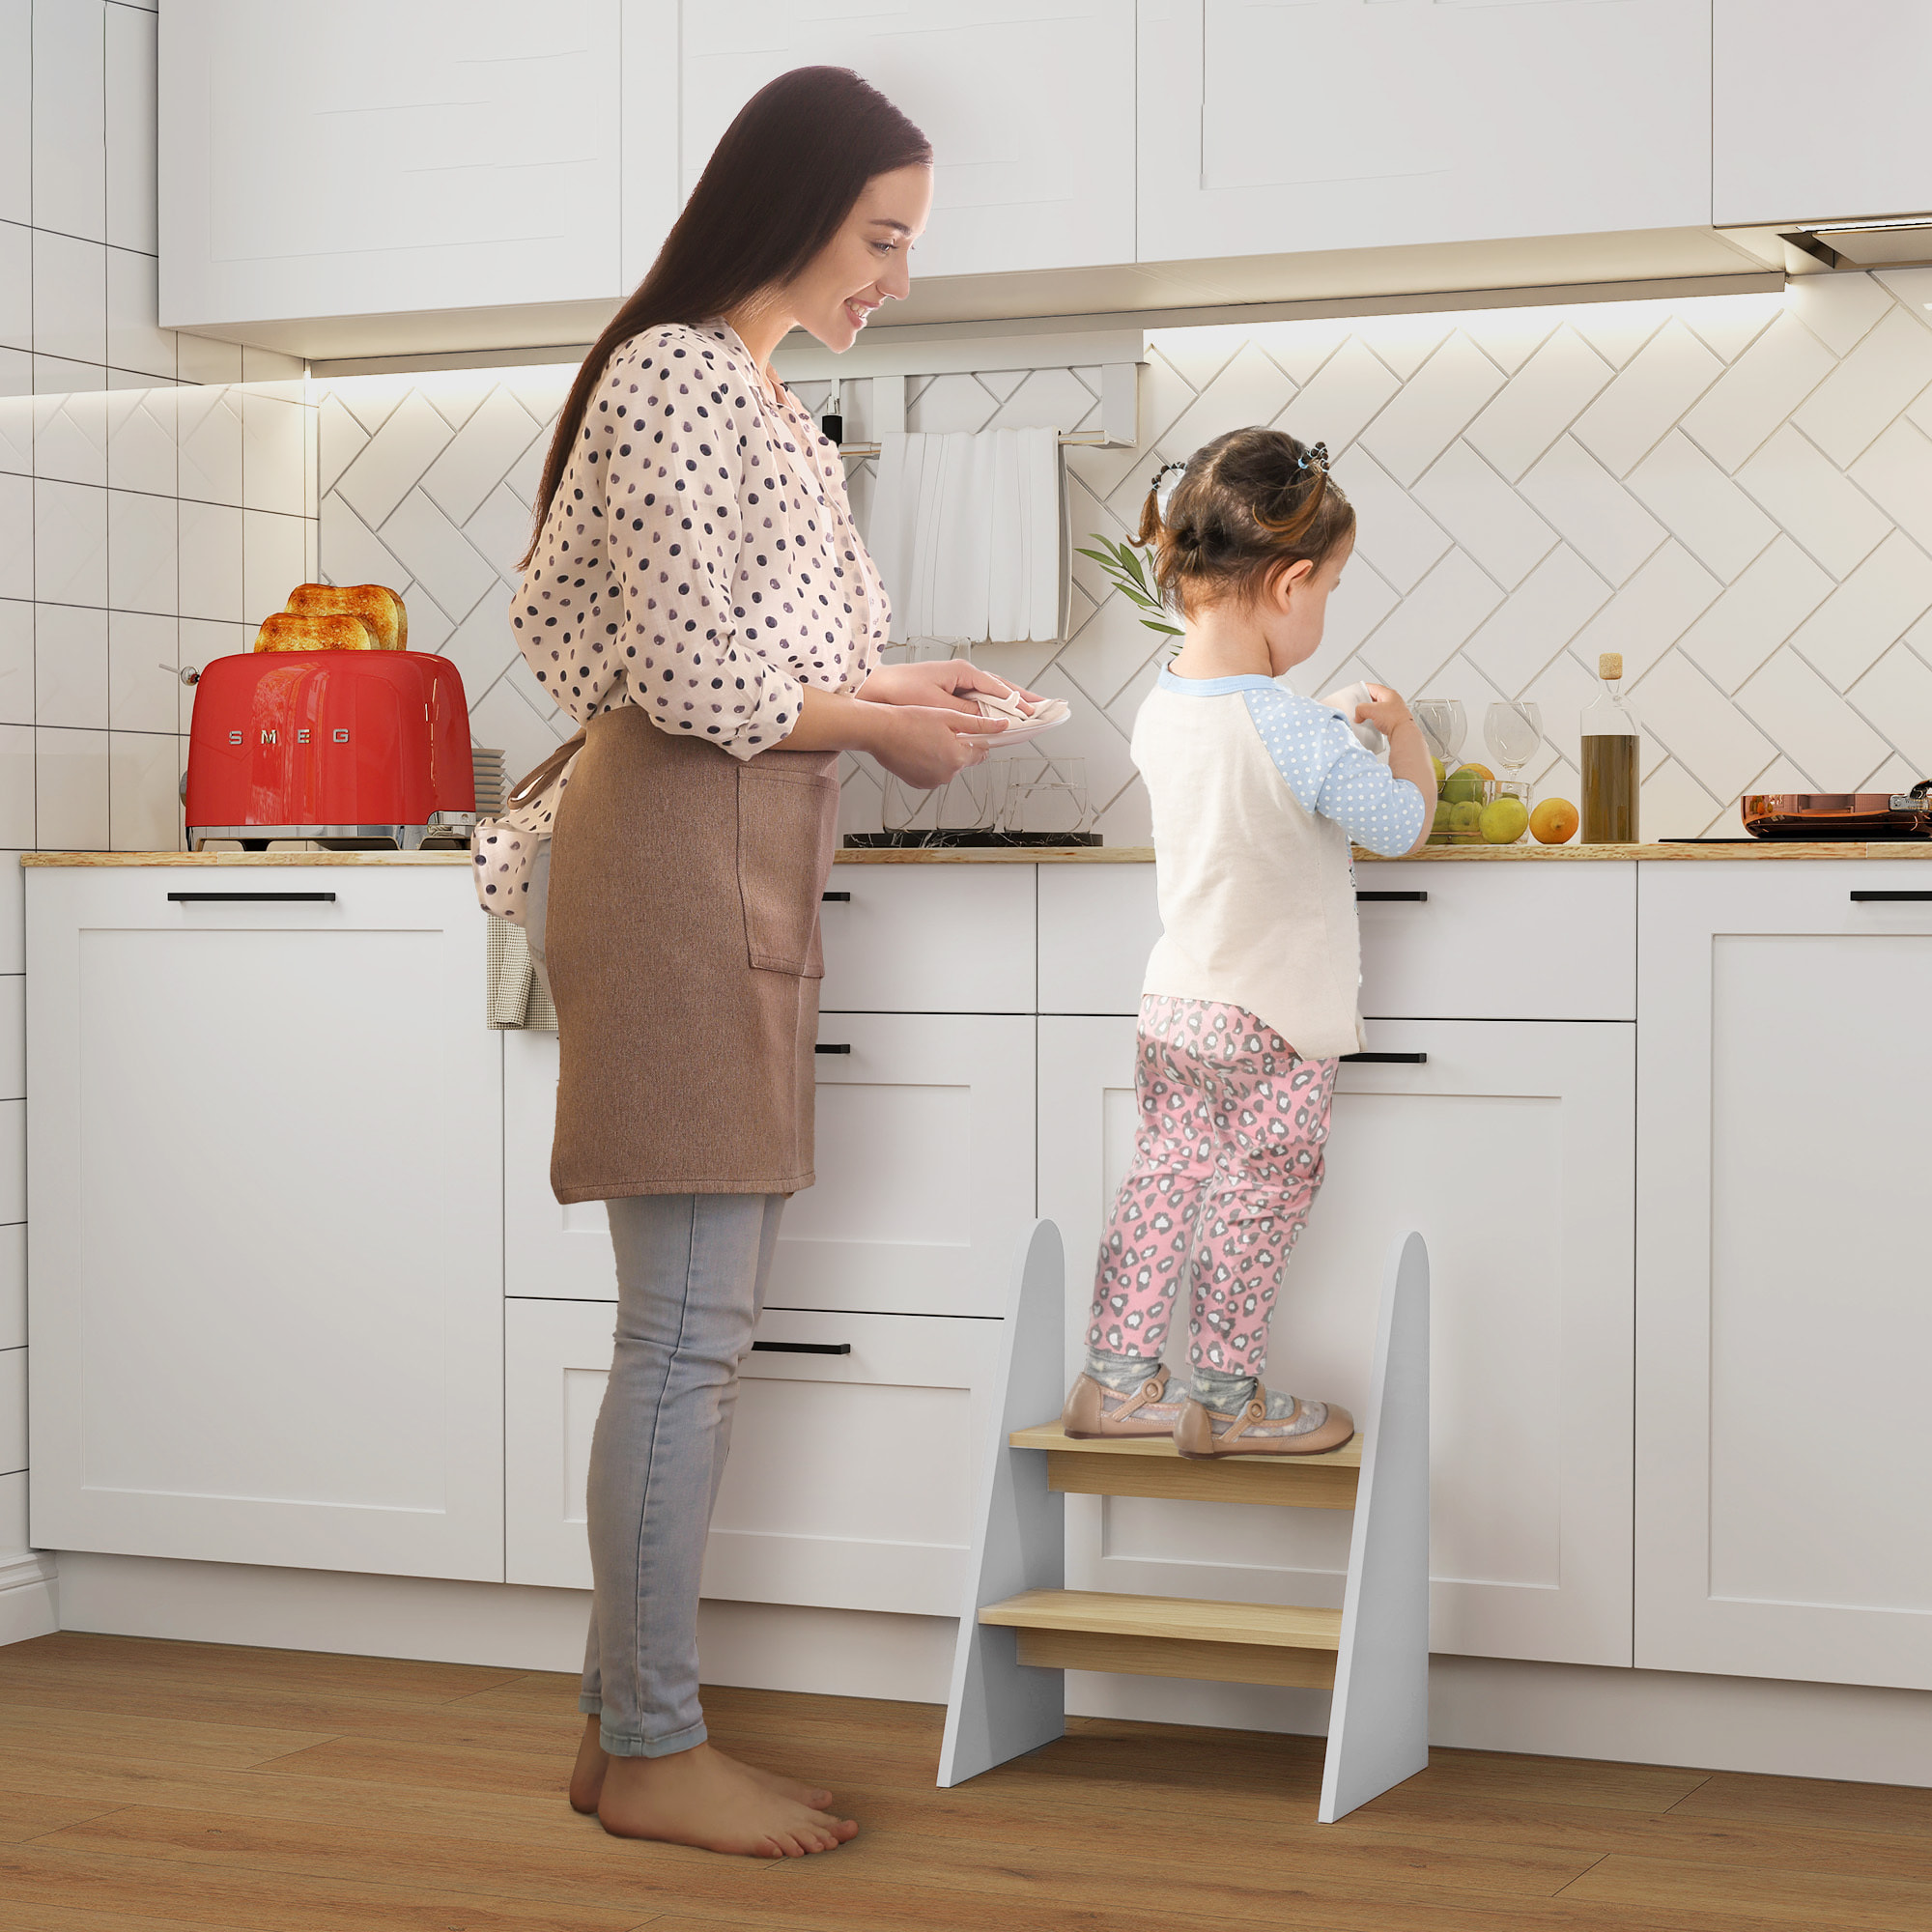
{"type": "MultiPolygon", "coordinates": [[[[162,323],[303,355],[582,340],[622,292],[620,95],[668,12],[170,0],[162,323]]],[[[674,112],[674,52],[661,87],[674,112]]],[[[668,226],[636,158],[634,218],[668,226]]]]}

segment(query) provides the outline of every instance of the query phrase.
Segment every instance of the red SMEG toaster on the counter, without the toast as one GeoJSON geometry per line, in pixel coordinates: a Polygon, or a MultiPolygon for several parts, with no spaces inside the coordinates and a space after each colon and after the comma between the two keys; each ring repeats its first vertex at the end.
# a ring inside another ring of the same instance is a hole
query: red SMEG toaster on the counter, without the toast
{"type": "Polygon", "coordinates": [[[209,838],[468,844],[462,674],[427,651],[216,657],[195,684],[182,804],[189,850],[209,838]]]}

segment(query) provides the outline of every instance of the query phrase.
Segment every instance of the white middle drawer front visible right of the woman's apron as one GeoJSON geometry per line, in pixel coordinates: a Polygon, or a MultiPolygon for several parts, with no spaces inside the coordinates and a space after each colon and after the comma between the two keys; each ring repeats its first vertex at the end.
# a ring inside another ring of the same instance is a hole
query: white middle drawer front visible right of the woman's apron
{"type": "Polygon", "coordinates": [[[817,1186],[784,1209],[767,1306],[1005,1314],[1034,1217],[1034,1020],[827,1014],[817,1072],[817,1186]]]}

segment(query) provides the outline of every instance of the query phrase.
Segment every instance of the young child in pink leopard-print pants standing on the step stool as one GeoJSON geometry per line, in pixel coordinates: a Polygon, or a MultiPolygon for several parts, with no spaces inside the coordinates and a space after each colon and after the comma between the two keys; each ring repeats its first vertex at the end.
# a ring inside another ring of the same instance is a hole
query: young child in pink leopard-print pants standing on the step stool
{"type": "Polygon", "coordinates": [[[1418,850],[1435,782],[1395,692],[1370,686],[1345,715],[1273,682],[1320,647],[1354,547],[1327,468],[1320,442],[1236,429],[1165,466],[1142,512],[1138,541],[1186,626],[1134,721],[1165,931],[1140,1001],[1140,1136],[1101,1238],[1068,1435],[1173,1432],[1182,1455],[1215,1457],[1314,1455],[1354,1434],[1345,1408],[1260,1378],[1321,1186],[1337,1057],[1362,1043],[1349,842],[1418,850]],[[1175,1401],[1161,1349],[1182,1285],[1192,1378],[1175,1401]]]}

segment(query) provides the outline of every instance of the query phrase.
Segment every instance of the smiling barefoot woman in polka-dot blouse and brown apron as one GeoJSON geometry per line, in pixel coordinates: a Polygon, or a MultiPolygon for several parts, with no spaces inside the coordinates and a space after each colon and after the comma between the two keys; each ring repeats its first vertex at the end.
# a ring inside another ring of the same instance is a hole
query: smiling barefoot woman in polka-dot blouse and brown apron
{"type": "Polygon", "coordinates": [[[794,327],[846,350],[904,298],[931,191],[925,137],[858,75],[802,68],[755,95],[578,373],[512,605],[585,726],[512,823],[551,831],[527,908],[558,1016],[551,1182],[609,1204],[618,1275],[570,1803],[618,1835],[757,1857],[858,1830],[829,1791],[705,1741],[696,1638],[738,1358],[784,1198],[811,1186],[837,759],[943,784],[985,755],[962,694],[1009,690],[881,665],[887,601],[838,454],[771,354],[794,327]]]}

